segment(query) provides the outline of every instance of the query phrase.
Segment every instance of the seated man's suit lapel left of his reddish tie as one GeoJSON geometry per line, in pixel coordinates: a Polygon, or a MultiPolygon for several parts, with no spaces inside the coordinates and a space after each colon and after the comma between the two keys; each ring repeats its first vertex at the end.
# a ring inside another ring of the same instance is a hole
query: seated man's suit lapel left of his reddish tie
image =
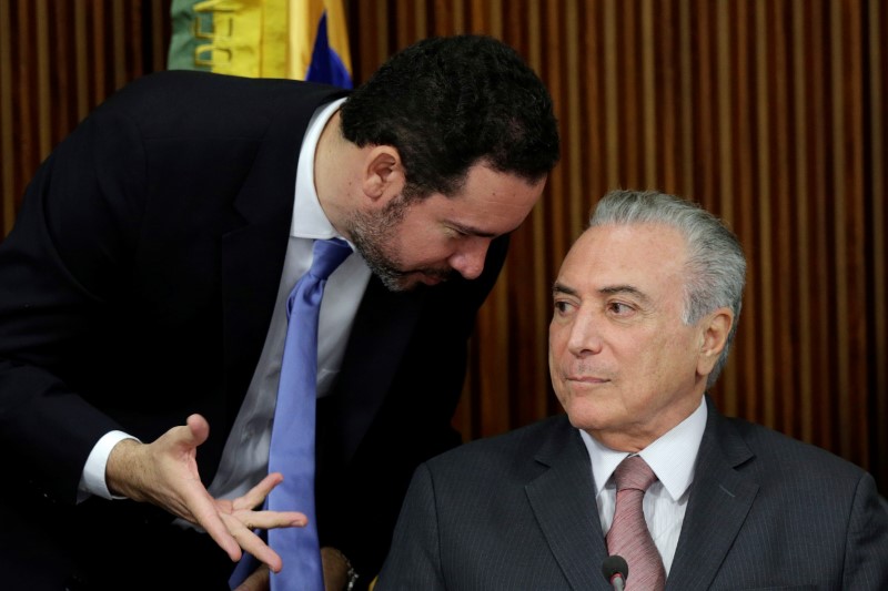
{"type": "Polygon", "coordinates": [[[567,418],[558,420],[554,435],[535,456],[548,469],[527,482],[527,499],[571,587],[608,589],[599,573],[607,551],[588,452],[567,418]]]}

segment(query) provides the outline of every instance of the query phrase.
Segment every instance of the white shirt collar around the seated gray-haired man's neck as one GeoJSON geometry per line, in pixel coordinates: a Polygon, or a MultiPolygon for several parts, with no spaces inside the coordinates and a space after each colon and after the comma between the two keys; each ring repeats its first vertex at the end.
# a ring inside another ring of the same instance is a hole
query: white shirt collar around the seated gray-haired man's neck
{"type": "MultiPolygon", "coordinates": [[[[682,498],[694,480],[694,466],[705,429],[706,398],[703,397],[700,405],[690,416],[638,452],[657,475],[674,501],[682,498]]],[[[602,445],[582,429],[579,435],[589,452],[597,497],[607,485],[617,465],[629,454],[602,445]]]]}

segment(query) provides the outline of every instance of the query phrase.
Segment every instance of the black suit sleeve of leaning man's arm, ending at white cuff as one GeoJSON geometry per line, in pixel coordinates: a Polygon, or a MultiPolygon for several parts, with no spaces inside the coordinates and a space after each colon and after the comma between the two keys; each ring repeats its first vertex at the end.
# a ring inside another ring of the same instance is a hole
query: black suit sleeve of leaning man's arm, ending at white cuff
{"type": "Polygon", "coordinates": [[[41,165],[0,244],[0,442],[67,502],[94,442],[120,428],[59,376],[124,273],[142,161],[131,122],[91,115],[41,165]]]}

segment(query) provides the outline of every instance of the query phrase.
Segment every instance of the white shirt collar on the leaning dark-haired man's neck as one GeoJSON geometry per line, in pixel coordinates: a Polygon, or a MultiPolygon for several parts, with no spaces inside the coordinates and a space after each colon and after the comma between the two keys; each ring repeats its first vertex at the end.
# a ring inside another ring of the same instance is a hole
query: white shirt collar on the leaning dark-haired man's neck
{"type": "Polygon", "coordinates": [[[321,140],[321,132],[324,131],[327,121],[344,101],[345,99],[339,99],[317,109],[309,122],[305,137],[302,140],[302,150],[299,153],[296,195],[293,205],[293,221],[290,226],[291,236],[314,240],[339,236],[317,198],[317,190],[314,186],[314,154],[317,150],[317,142],[321,140]]]}

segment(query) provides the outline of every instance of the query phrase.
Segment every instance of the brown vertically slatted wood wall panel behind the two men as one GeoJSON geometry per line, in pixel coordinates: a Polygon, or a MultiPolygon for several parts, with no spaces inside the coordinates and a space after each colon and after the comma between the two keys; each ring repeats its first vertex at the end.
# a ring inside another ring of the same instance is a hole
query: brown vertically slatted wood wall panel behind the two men
{"type": "MultiPolygon", "coordinates": [[[[0,227],[50,149],[162,70],[170,0],[0,0],[0,227]]],[[[558,412],[549,286],[595,202],[702,202],[749,258],[722,409],[826,447],[888,490],[886,104],[878,0],[361,0],[355,78],[426,35],[515,47],[556,103],[563,160],[478,318],[466,439],[558,412]]]]}

